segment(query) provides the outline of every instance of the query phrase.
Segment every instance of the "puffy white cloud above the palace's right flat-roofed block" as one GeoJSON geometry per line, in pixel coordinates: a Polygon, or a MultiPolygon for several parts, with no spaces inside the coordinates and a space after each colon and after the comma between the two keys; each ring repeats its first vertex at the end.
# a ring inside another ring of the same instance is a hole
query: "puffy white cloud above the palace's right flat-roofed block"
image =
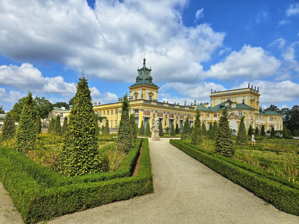
{"type": "Polygon", "coordinates": [[[280,65],[281,62],[263,48],[244,45],[238,52],[231,52],[224,61],[211,65],[205,76],[221,80],[233,77],[256,79],[277,74],[280,65]]]}

